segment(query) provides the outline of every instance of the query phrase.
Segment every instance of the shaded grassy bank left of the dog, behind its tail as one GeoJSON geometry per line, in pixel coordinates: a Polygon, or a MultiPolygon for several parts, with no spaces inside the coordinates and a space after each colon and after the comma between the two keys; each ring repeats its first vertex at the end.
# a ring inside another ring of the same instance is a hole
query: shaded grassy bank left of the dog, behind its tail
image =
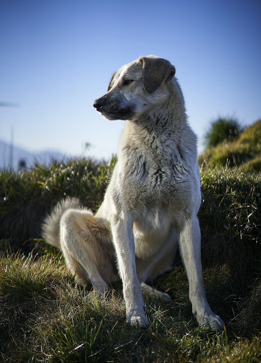
{"type": "Polygon", "coordinates": [[[105,162],[78,159],[48,167],[38,164],[21,173],[4,170],[0,173],[0,249],[6,241],[12,249],[29,253],[33,238],[41,236],[41,222],[57,201],[78,196],[95,211],[101,204],[106,183],[116,158],[105,162]]]}

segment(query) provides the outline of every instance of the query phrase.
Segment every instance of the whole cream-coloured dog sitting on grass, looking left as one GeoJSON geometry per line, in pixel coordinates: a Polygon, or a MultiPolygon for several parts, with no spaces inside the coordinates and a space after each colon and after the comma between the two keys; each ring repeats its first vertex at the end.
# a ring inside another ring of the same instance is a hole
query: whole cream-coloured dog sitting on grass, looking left
{"type": "Polygon", "coordinates": [[[121,278],[127,322],[140,327],[148,326],[142,291],[170,299],[147,282],[171,270],[179,247],[193,315],[200,326],[222,330],[203,286],[196,136],[175,67],[140,57],[113,74],[93,106],[109,120],[125,120],[118,161],[97,213],[76,198],[60,201],[43,223],[45,240],[62,250],[79,283],[93,285],[89,297],[121,278]]]}

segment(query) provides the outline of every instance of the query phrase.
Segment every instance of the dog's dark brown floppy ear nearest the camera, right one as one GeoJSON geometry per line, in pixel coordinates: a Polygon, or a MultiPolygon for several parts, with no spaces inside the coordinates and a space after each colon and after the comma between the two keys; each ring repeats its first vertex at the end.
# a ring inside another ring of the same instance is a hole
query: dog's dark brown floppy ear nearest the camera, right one
{"type": "Polygon", "coordinates": [[[139,58],[142,64],[142,83],[147,93],[155,92],[164,82],[175,75],[175,67],[163,58],[139,58]]]}

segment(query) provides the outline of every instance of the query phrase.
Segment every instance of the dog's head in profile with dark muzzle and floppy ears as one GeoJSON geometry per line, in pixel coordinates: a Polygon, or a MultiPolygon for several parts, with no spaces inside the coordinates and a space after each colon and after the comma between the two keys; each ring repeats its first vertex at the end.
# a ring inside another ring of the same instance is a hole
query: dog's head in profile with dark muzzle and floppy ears
{"type": "Polygon", "coordinates": [[[131,120],[168,96],[175,68],[163,58],[141,57],[124,65],[111,77],[107,93],[93,106],[109,120],[131,120]]]}

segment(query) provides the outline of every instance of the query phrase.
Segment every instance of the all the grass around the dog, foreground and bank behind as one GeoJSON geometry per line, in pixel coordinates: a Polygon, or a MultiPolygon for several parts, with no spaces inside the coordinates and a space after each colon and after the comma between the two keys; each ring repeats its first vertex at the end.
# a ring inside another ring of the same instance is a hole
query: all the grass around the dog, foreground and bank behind
{"type": "Polygon", "coordinates": [[[226,330],[197,326],[178,257],[153,282],[171,302],[144,296],[147,329],[125,323],[121,284],[85,302],[64,259],[41,239],[45,214],[64,195],[99,207],[115,158],[0,173],[0,361],[260,362],[261,180],[248,168],[201,169],[203,278],[226,330]]]}

